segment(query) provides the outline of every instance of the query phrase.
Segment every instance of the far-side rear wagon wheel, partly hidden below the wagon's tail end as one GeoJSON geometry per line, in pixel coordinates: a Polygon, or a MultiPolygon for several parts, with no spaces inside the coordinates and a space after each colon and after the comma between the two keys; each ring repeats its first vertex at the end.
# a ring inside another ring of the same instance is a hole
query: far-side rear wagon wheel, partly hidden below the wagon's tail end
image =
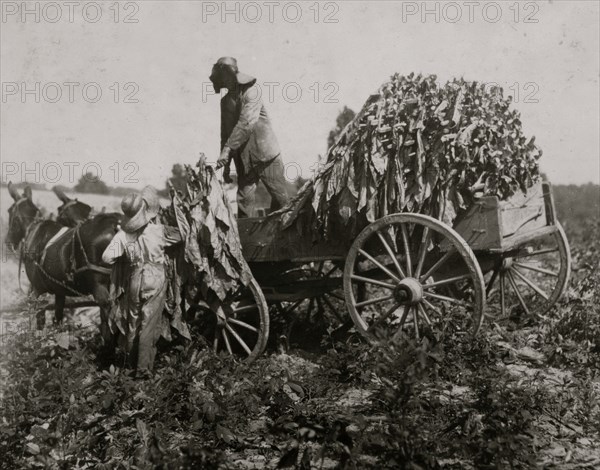
{"type": "Polygon", "coordinates": [[[545,318],[567,288],[570,273],[569,242],[557,224],[554,232],[519,246],[492,271],[487,282],[492,315],[504,317],[519,306],[527,315],[545,318]]]}

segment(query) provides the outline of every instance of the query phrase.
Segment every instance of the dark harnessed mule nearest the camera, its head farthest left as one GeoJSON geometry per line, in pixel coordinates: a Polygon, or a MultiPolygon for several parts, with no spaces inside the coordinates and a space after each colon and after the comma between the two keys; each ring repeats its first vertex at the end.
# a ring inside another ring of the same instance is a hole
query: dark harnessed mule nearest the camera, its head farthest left
{"type": "Polygon", "coordinates": [[[117,232],[122,214],[99,214],[64,229],[58,222],[39,218],[29,187],[20,195],[9,183],[8,191],[15,202],[8,210],[6,243],[21,246],[21,262],[34,295],[54,295],[56,323],[63,320],[67,296],[92,295],[100,307],[102,335],[108,341],[111,271],[102,263],[102,253],[117,232]]]}

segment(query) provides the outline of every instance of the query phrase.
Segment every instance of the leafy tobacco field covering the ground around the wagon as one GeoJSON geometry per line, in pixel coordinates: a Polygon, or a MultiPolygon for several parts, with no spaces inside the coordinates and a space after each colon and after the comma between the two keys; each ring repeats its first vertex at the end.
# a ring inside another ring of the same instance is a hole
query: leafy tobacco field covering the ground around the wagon
{"type": "Polygon", "coordinates": [[[598,468],[598,188],[555,193],[567,298],[475,339],[373,347],[312,322],[287,349],[273,321],[250,366],[192,334],[140,380],[101,354],[94,310],[36,332],[23,303],[2,335],[0,468],[598,468]]]}

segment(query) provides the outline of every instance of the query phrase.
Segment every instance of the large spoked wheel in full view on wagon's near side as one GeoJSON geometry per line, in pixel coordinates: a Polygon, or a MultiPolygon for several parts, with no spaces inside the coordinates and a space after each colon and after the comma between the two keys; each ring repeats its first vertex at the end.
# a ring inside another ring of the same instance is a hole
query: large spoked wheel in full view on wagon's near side
{"type": "Polygon", "coordinates": [[[453,229],[420,214],[383,217],[358,235],[344,293],[356,329],[369,340],[403,333],[418,339],[448,328],[474,335],[484,317],[483,275],[472,250],[453,229]],[[364,300],[357,300],[360,289],[364,300]]]}

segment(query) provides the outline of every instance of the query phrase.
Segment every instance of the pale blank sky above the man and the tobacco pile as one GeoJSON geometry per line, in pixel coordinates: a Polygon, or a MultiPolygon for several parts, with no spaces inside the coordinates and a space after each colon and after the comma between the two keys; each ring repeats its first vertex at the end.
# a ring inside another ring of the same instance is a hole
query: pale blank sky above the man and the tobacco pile
{"type": "Polygon", "coordinates": [[[286,163],[309,177],[346,105],[395,72],[513,95],[555,184],[600,182],[599,5],[536,2],[2,1],[2,181],[164,185],[219,152],[208,75],[257,77],[286,163]],[[98,4],[101,3],[100,9],[98,4]]]}

